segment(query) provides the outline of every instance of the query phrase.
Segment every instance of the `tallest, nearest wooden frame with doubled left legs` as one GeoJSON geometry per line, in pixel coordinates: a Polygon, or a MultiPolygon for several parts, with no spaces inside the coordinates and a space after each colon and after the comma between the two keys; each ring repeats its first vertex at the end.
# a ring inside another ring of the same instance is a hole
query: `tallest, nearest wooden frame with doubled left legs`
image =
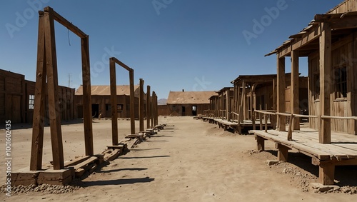
{"type": "Polygon", "coordinates": [[[87,156],[94,155],[93,131],[91,118],[91,76],[89,66],[89,36],[57,14],[51,7],[39,11],[39,36],[37,46],[36,89],[34,100],[34,121],[32,127],[32,144],[30,170],[42,168],[42,150],[44,145],[44,117],[46,100],[46,81],[48,82],[49,122],[51,127],[51,146],[54,170],[64,168],[64,150],[61,131],[61,114],[59,107],[58,71],[56,59],[56,41],[54,21],[71,30],[81,38],[81,60],[83,79],[84,141],[87,156]]]}

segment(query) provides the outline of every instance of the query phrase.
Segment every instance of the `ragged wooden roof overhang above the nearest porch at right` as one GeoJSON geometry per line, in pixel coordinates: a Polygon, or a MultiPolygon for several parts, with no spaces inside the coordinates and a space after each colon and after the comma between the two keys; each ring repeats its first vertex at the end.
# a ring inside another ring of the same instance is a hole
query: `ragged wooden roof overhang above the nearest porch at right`
{"type": "Polygon", "coordinates": [[[298,34],[289,36],[281,46],[265,56],[277,54],[278,58],[291,56],[291,51],[298,50],[299,56],[308,56],[319,49],[321,23],[331,25],[331,43],[350,35],[357,29],[357,11],[343,14],[316,14],[313,21],[298,34]]]}

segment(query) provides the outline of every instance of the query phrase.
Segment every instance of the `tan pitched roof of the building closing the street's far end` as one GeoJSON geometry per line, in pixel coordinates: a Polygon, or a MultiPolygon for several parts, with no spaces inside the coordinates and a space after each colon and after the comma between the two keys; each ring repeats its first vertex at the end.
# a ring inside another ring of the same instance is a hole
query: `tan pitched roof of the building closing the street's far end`
{"type": "Polygon", "coordinates": [[[216,91],[170,91],[168,104],[209,103],[209,98],[216,95],[216,91]]]}

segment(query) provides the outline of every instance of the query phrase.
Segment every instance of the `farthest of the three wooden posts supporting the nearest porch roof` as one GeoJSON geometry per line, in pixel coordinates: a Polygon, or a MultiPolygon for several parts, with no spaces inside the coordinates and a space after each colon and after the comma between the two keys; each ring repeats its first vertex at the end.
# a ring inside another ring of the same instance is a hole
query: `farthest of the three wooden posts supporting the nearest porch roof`
{"type": "MultiPolygon", "coordinates": [[[[285,57],[279,58],[278,57],[278,87],[277,87],[277,108],[278,112],[285,112],[285,57]]],[[[278,131],[286,131],[285,126],[285,116],[278,116],[278,131]]]]}

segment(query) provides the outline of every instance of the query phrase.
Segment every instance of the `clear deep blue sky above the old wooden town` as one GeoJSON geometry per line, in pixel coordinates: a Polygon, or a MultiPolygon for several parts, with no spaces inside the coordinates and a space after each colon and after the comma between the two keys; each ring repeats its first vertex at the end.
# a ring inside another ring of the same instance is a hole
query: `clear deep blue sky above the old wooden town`
{"type": "MultiPolygon", "coordinates": [[[[239,75],[276,74],[264,57],[342,0],[1,0],[0,69],[36,76],[38,10],[51,6],[89,35],[91,84],[109,85],[109,56],[166,99],[169,91],[218,91],[239,75]]],[[[81,84],[79,37],[55,24],[59,84],[81,84]],[[69,45],[70,44],[70,45],[69,45]],[[69,79],[69,75],[71,76],[69,79]]],[[[286,71],[290,71],[290,59],[286,71]]],[[[300,72],[307,74],[306,59],[300,72]]],[[[129,84],[124,69],[117,84],[129,84]]]]}

